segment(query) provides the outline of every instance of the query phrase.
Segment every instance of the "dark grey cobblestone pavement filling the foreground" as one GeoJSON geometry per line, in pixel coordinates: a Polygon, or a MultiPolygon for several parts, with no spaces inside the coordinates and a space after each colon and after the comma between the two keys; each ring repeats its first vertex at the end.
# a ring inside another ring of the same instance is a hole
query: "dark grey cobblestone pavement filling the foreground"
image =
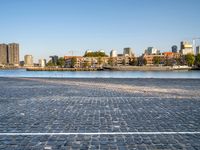
{"type": "Polygon", "coordinates": [[[199,79],[0,78],[0,87],[0,149],[200,149],[199,79]],[[160,133],[126,134],[144,132],[160,133]]]}

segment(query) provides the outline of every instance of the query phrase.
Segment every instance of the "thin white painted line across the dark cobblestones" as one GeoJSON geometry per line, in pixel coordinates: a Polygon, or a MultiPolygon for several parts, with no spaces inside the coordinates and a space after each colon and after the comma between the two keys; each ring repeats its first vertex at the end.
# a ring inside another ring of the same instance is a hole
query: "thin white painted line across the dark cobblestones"
{"type": "Polygon", "coordinates": [[[37,136],[37,135],[174,135],[200,134],[200,132],[96,132],[96,133],[0,133],[0,136],[37,136]]]}

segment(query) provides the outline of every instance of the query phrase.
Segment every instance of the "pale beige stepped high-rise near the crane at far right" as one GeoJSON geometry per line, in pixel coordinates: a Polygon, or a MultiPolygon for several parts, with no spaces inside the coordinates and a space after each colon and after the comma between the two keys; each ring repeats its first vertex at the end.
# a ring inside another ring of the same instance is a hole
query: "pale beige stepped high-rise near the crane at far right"
{"type": "Polygon", "coordinates": [[[181,42],[181,50],[180,53],[182,55],[187,55],[189,53],[194,54],[193,46],[190,42],[188,41],[183,41],[181,42]]]}

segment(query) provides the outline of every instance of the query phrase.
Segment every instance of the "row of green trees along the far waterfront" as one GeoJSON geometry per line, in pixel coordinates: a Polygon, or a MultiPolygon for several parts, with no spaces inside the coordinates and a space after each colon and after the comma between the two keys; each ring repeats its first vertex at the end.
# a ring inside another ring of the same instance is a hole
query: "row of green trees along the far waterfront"
{"type": "MultiPolygon", "coordinates": [[[[94,52],[95,54],[96,52],[94,52]]],[[[100,52],[101,53],[101,52],[100,52]]],[[[96,55],[96,54],[95,54],[96,55]]],[[[94,56],[94,55],[93,55],[94,56]]],[[[89,57],[89,56],[87,56],[89,57]]],[[[102,55],[98,57],[97,62],[90,62],[90,61],[85,61],[83,63],[83,67],[90,67],[93,66],[94,63],[97,63],[98,66],[101,66],[103,64],[103,59],[102,59],[102,55]]],[[[72,68],[75,67],[77,63],[77,58],[76,57],[72,57],[71,59],[71,66],[72,68]]],[[[111,66],[116,66],[117,65],[117,60],[116,58],[109,58],[108,59],[108,64],[111,66]]],[[[126,60],[124,59],[122,61],[122,65],[131,65],[131,66],[140,66],[140,65],[146,65],[147,64],[147,60],[146,59],[137,59],[136,57],[131,57],[129,58],[129,60],[126,62],[126,60]]],[[[172,65],[188,65],[188,66],[193,66],[196,65],[198,67],[200,67],[200,54],[198,54],[197,56],[194,56],[193,54],[187,54],[185,56],[179,57],[179,58],[175,58],[175,59],[168,59],[168,58],[161,58],[159,56],[155,56],[153,58],[153,64],[154,65],[165,65],[165,66],[172,66],[172,65]]],[[[59,67],[64,67],[65,66],[65,60],[63,57],[60,57],[58,59],[57,62],[53,63],[52,60],[50,60],[47,63],[47,66],[59,66],[59,67]]]]}

